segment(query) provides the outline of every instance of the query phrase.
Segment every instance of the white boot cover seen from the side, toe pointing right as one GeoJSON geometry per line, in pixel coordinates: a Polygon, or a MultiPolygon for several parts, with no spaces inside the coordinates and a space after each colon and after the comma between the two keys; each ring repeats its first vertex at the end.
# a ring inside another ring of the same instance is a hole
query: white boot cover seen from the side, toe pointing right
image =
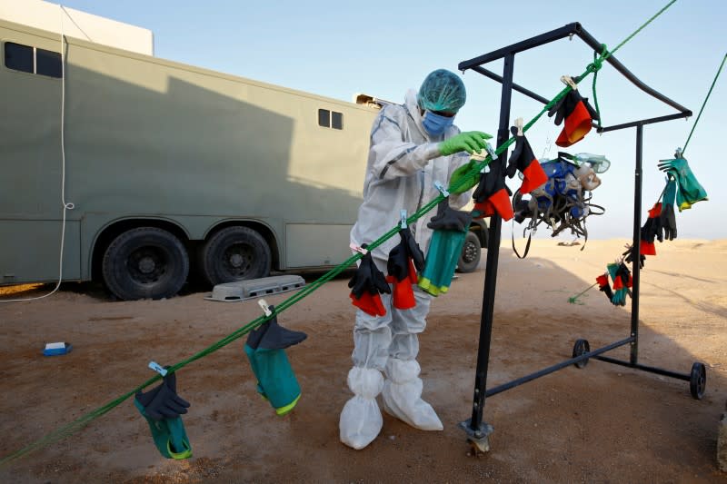
{"type": "Polygon", "coordinates": [[[422,379],[419,378],[416,360],[386,362],[386,378],[383,383],[383,410],[399,420],[420,430],[443,430],[442,421],[432,405],[422,400],[422,379]]]}

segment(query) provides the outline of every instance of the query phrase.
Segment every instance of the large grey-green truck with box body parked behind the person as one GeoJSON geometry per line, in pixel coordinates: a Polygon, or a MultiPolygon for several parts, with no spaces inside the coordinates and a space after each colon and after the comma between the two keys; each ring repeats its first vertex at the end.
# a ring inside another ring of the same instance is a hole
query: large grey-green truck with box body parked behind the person
{"type": "MultiPolygon", "coordinates": [[[[0,285],[123,300],[344,262],[381,108],[0,20],[0,285]],[[63,49],[63,55],[61,55],[63,49]]],[[[460,269],[486,246],[475,222],[460,269]]]]}

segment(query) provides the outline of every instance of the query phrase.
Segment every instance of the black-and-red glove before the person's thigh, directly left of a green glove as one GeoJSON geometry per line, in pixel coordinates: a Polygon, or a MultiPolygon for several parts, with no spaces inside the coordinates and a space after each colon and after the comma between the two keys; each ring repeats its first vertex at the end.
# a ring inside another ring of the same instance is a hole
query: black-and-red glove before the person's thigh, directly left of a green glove
{"type": "Polygon", "coordinates": [[[409,310],[416,305],[413,285],[417,282],[416,272],[424,269],[424,254],[408,227],[399,230],[399,235],[402,242],[389,252],[386,281],[393,284],[393,307],[409,310]]]}

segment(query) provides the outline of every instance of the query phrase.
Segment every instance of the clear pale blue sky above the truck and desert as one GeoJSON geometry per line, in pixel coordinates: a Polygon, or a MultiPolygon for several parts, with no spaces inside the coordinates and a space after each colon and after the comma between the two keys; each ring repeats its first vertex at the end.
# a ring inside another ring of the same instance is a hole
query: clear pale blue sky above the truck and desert
{"type": "MultiPolygon", "coordinates": [[[[457,64],[554,28],[581,22],[610,48],[655,14],[667,0],[523,0],[365,3],[299,0],[67,0],[63,5],[139,25],[154,32],[155,55],[229,74],[351,101],[354,93],[401,102],[436,68],[457,64]]],[[[643,217],[663,188],[656,168],[683,146],[714,74],[727,53],[727,2],[678,0],[615,56],[644,83],[690,109],[688,121],[644,127],[643,217]]],[[[551,98],[562,74],[581,74],[592,52],[578,39],[548,44],[515,57],[515,82],[551,98]]],[[[489,64],[502,74],[502,63],[489,64]]],[[[592,97],[589,77],[582,84],[592,97]]],[[[500,84],[473,71],[463,75],[468,102],[455,123],[463,130],[495,133],[500,84]]],[[[599,73],[597,93],[604,125],[624,123],[673,109],[626,82],[609,65],[599,73]]],[[[593,104],[593,101],[592,101],[593,104]]],[[[530,120],[543,107],[513,95],[513,118],[530,120]]],[[[722,112],[727,109],[727,67],[685,153],[710,200],[677,212],[680,238],[727,238],[723,222],[727,156],[722,153],[722,112]]],[[[535,154],[554,157],[560,133],[546,116],[528,133],[535,154]]],[[[635,129],[586,136],[569,153],[605,154],[612,168],[593,192],[606,207],[588,219],[593,238],[632,234],[635,129]]],[[[516,188],[517,183],[510,183],[516,188]]],[[[517,226],[516,226],[517,227],[517,226]]],[[[545,231],[543,231],[545,232],[545,231]]],[[[509,236],[510,224],[503,237],[509,236]]],[[[572,237],[564,237],[572,239],[572,237]]]]}

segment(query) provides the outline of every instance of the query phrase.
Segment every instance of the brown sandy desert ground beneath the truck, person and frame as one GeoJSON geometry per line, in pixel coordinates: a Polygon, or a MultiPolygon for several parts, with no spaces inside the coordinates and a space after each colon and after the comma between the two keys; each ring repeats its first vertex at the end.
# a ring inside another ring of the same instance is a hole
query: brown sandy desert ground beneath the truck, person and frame
{"type": "MultiPolygon", "coordinates": [[[[503,247],[488,388],[566,360],[578,338],[595,349],[629,336],[630,306],[612,306],[597,289],[582,304],[568,302],[624,242],[590,241],[581,252],[536,241],[524,261],[503,247]]],[[[303,388],[290,415],[276,417],[256,395],[243,338],[178,372],[179,393],[192,403],[184,424],[194,458],[161,458],[127,400],[0,469],[0,481],[727,482],[716,463],[727,400],[727,241],[664,242],[657,252],[642,272],[639,362],[689,374],[702,361],[703,400],[692,399],[688,381],[603,361],[568,366],[488,399],[492,450],[468,456],[457,424],[472,414],[483,257],[480,270],[434,301],[421,339],[423,396],[443,420],[441,432],[384,414],[368,448],[339,442],[354,315],[341,277],[279,318],[309,335],[288,351],[303,388]]],[[[0,304],[0,456],[134,389],[152,375],[148,361],[182,361],[259,315],[256,301],[204,301],[206,293],[118,302],[94,285],[69,284],[45,300],[0,304]],[[47,341],[74,350],[44,357],[47,341]]],[[[628,360],[629,350],[607,355],[628,360]]]]}

